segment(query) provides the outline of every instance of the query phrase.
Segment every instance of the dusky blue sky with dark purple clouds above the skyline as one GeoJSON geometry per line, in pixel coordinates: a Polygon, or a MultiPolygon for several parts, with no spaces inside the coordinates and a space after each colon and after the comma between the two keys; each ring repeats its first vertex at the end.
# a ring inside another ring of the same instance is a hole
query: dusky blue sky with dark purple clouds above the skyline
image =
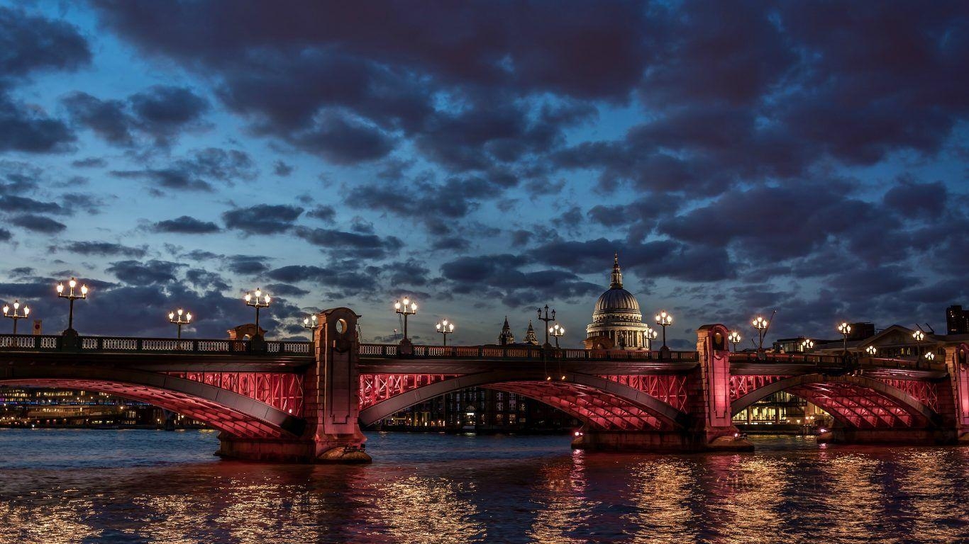
{"type": "MultiPolygon", "coordinates": [[[[964,2],[0,0],[0,300],[47,333],[270,337],[392,301],[457,344],[647,316],[929,322],[969,305],[964,2]]],[[[7,325],[4,326],[8,326],[7,325]]],[[[749,336],[749,325],[741,330],[749,336]]]]}

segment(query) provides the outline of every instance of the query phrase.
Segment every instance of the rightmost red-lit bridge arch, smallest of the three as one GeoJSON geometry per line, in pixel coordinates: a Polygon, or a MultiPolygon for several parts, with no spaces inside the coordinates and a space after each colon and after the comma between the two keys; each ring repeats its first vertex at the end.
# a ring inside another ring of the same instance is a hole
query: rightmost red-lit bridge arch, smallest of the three
{"type": "Polygon", "coordinates": [[[781,378],[735,399],[732,413],[781,391],[824,409],[835,421],[853,428],[934,427],[939,422],[936,411],[901,389],[875,378],[849,375],[781,378]]]}

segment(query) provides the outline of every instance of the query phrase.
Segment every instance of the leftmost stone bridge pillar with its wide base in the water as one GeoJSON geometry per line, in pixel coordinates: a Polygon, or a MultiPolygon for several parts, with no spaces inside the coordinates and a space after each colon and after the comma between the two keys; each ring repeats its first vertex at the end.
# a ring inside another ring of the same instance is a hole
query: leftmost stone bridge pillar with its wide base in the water
{"type": "Polygon", "coordinates": [[[319,315],[316,360],[303,376],[299,438],[251,439],[223,434],[218,455],[234,459],[297,463],[369,463],[360,433],[357,315],[335,308],[319,315]]]}

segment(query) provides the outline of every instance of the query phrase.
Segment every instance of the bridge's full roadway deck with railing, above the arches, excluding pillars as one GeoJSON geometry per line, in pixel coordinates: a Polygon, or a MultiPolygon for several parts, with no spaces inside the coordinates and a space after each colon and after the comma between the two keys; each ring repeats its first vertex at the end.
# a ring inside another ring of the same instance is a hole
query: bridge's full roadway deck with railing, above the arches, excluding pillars
{"type": "MultiPolygon", "coordinates": [[[[59,335],[0,335],[0,358],[9,362],[63,362],[125,365],[157,371],[299,372],[313,360],[311,343],[266,341],[257,351],[248,340],[79,337],[79,348],[64,349],[59,335]],[[136,359],[129,357],[137,355],[136,359]],[[137,361],[137,362],[133,362],[137,361]]],[[[682,374],[699,364],[697,351],[570,349],[502,346],[414,346],[403,354],[395,344],[360,344],[364,374],[473,374],[494,370],[531,370],[550,374],[682,374]]],[[[732,353],[735,375],[793,376],[861,370],[873,376],[935,379],[946,376],[943,362],[926,363],[839,355],[732,353]]]]}

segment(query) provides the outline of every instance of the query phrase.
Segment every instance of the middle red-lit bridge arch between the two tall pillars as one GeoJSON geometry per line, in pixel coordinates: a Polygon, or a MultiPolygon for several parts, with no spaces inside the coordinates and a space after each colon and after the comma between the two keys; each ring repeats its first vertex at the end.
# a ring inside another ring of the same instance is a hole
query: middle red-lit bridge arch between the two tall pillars
{"type": "Polygon", "coordinates": [[[423,401],[468,387],[487,387],[516,393],[545,403],[601,430],[674,430],[689,427],[689,414],[639,389],[606,378],[565,373],[548,380],[545,374],[492,371],[435,381],[394,395],[360,410],[367,426],[423,401]]]}

